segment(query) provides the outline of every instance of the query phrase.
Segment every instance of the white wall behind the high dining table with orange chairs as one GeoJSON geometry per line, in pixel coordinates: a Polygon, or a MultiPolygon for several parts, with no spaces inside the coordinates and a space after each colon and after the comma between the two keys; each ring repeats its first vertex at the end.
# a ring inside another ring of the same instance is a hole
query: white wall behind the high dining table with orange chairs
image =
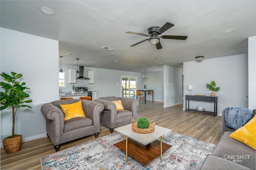
{"type": "MultiPolygon", "coordinates": [[[[142,75],[145,75],[142,74],[142,75]]],[[[142,88],[144,89],[144,85],[146,85],[146,89],[148,90],[154,90],[154,101],[164,101],[164,72],[158,71],[158,72],[146,72],[146,76],[148,76],[148,79],[142,78],[142,88]]],[[[148,97],[147,96],[147,100],[148,97]]],[[[150,97],[150,99],[152,96],[150,97]]],[[[152,99],[151,99],[152,100],[152,99]]]]}

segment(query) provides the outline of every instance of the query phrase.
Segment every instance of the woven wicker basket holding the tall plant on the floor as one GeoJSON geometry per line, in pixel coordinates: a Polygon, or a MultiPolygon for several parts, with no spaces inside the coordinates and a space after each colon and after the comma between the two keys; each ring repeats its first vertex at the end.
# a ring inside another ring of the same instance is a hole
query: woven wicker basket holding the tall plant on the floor
{"type": "Polygon", "coordinates": [[[21,149],[22,135],[10,139],[3,139],[4,150],[7,153],[18,152],[21,149]]]}

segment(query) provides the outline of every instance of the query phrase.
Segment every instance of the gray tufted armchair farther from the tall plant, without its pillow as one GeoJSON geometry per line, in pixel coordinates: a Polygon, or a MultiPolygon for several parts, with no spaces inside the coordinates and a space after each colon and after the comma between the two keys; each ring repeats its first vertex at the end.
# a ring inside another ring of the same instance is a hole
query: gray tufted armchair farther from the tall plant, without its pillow
{"type": "Polygon", "coordinates": [[[99,102],[104,105],[104,110],[100,113],[100,123],[109,127],[113,133],[115,127],[120,127],[132,123],[132,119],[136,120],[138,100],[122,97],[102,97],[95,99],[94,102],[99,102]],[[121,100],[124,107],[123,110],[116,110],[116,104],[111,101],[121,100]]]}

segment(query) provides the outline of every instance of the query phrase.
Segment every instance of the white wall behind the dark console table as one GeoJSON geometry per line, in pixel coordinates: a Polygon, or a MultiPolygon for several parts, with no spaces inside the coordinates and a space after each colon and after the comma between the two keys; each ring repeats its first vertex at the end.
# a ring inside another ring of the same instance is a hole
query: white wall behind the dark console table
{"type": "MultiPolygon", "coordinates": [[[[188,85],[193,85],[192,95],[210,96],[206,84],[216,82],[220,90],[218,96],[218,115],[225,107],[248,107],[248,55],[232,55],[215,59],[204,59],[200,62],[183,63],[184,95],[188,95],[188,85]]],[[[213,111],[214,106],[208,102],[190,101],[190,108],[202,106],[213,111]]],[[[185,109],[185,98],[184,106],[185,109]]]]}

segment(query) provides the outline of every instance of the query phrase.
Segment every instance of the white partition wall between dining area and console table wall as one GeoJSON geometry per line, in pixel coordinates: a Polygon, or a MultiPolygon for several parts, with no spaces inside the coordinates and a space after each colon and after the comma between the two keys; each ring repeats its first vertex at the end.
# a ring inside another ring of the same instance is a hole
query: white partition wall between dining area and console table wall
{"type": "Polygon", "coordinates": [[[182,68],[164,65],[164,107],[182,102],[182,68]]]}

